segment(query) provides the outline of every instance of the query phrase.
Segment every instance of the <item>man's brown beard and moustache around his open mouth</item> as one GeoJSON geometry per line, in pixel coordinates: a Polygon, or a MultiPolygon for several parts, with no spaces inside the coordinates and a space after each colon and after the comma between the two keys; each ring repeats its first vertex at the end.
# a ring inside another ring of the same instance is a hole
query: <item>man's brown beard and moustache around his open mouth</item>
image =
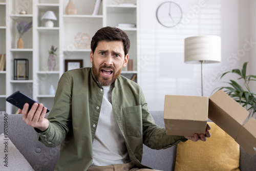
{"type": "Polygon", "coordinates": [[[101,86],[111,86],[115,82],[115,80],[119,77],[121,71],[122,71],[122,68],[119,69],[118,71],[116,71],[115,68],[112,66],[101,66],[97,70],[97,68],[93,62],[93,74],[94,74],[96,80],[101,84],[101,86]],[[103,77],[101,75],[102,68],[111,69],[113,71],[112,77],[103,77]]]}

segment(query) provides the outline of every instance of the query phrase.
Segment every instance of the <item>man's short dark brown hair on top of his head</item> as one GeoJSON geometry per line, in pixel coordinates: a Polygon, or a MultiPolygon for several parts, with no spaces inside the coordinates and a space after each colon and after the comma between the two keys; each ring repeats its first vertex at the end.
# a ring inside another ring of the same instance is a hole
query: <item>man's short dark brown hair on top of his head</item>
{"type": "Polygon", "coordinates": [[[99,29],[92,38],[91,50],[94,54],[98,42],[101,40],[105,41],[122,41],[124,55],[127,55],[130,49],[130,40],[127,34],[116,27],[103,27],[99,29]]]}

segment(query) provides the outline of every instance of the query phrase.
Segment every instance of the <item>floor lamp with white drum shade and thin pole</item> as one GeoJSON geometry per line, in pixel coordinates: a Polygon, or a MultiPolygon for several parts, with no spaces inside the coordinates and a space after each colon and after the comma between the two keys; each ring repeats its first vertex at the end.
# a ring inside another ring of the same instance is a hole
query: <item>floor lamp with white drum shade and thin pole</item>
{"type": "Polygon", "coordinates": [[[201,63],[201,89],[203,96],[203,64],[221,61],[221,37],[214,35],[185,38],[185,63],[201,63]]]}

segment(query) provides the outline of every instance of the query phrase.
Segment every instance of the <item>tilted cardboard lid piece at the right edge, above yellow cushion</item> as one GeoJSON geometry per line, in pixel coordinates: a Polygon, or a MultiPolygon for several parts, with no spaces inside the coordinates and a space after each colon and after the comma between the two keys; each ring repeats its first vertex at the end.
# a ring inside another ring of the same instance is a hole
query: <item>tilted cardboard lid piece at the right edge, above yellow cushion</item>
{"type": "Polygon", "coordinates": [[[256,120],[250,118],[244,124],[248,114],[246,109],[222,90],[209,97],[209,119],[236,140],[250,156],[254,156],[256,120]]]}

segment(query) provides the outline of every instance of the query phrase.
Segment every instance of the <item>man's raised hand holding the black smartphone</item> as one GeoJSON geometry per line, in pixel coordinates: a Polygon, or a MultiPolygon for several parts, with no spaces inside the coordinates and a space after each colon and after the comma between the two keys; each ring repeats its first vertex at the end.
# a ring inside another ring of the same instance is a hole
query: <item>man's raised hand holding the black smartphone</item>
{"type": "Polygon", "coordinates": [[[22,113],[23,120],[30,126],[39,129],[41,132],[44,132],[49,127],[49,121],[45,118],[47,108],[44,107],[42,103],[34,103],[29,110],[29,104],[25,103],[23,110],[19,109],[19,112],[22,113]]]}

